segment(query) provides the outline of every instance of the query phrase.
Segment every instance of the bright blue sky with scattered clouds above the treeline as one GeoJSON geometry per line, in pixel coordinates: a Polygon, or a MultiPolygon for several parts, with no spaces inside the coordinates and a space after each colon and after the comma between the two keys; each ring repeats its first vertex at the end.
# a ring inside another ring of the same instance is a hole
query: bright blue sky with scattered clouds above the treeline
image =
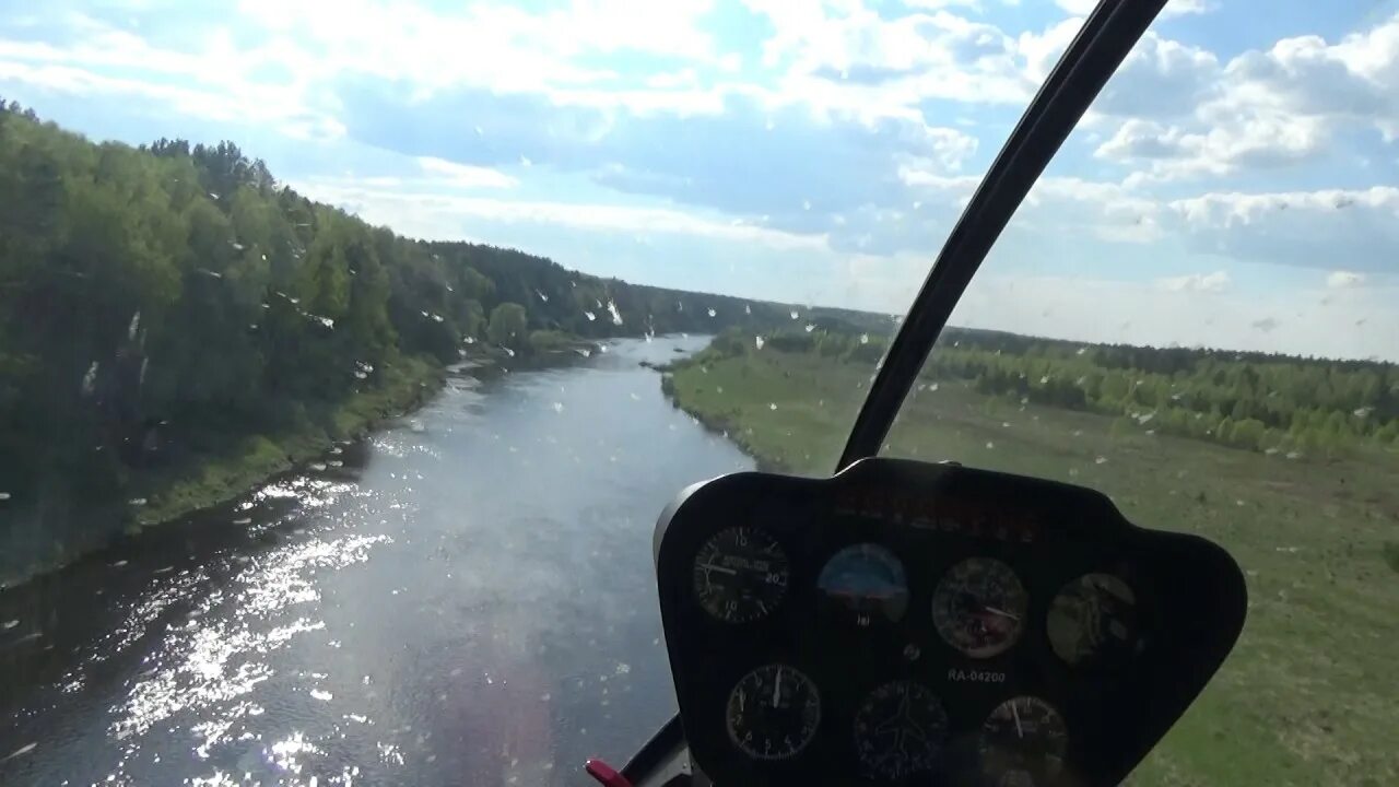
{"type": "MultiPolygon", "coordinates": [[[[1093,6],[7,0],[0,95],[406,235],[902,312],[1093,6]]],[[[1399,360],[1399,0],[1171,0],[953,321],[1399,360]]]]}

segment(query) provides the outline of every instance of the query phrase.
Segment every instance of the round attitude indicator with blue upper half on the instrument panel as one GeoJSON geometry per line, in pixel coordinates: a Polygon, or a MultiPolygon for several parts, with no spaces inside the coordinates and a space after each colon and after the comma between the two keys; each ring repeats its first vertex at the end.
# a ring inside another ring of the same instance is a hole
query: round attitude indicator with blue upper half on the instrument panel
{"type": "Polygon", "coordinates": [[[894,553],[877,543],[856,543],[835,553],[817,587],[856,626],[897,623],[908,609],[908,578],[894,553]]]}

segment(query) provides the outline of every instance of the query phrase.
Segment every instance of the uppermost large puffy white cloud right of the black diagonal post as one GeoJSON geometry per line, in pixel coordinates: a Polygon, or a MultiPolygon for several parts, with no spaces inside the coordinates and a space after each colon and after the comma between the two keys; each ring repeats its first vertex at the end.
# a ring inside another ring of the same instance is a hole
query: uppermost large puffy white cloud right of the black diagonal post
{"type": "Polygon", "coordinates": [[[1328,43],[1286,38],[1220,66],[1198,48],[1143,38],[1095,108],[1128,119],[1097,155],[1147,161],[1146,179],[1230,175],[1308,161],[1346,129],[1399,139],[1399,14],[1328,43]],[[1168,120],[1168,122],[1163,122],[1168,120]]]}

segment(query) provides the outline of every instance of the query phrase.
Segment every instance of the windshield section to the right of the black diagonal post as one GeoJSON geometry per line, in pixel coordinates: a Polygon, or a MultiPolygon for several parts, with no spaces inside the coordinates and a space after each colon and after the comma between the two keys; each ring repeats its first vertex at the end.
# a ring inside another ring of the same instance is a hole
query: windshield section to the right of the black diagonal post
{"type": "Polygon", "coordinates": [[[1399,695],[1377,681],[1399,641],[1399,17],[1367,7],[1328,34],[1277,11],[1227,34],[1224,10],[1158,20],[886,444],[1086,485],[1238,559],[1242,639],[1133,784],[1399,769],[1399,695]]]}

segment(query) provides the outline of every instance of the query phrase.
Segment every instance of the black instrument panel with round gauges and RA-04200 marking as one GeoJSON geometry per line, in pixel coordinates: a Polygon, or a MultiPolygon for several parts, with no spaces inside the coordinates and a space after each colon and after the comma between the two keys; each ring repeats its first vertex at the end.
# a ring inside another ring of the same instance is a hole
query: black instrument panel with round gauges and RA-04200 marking
{"type": "Polygon", "coordinates": [[[1095,492],[902,459],[697,485],[655,548],[716,784],[1116,784],[1247,605],[1227,553],[1095,492]]]}

